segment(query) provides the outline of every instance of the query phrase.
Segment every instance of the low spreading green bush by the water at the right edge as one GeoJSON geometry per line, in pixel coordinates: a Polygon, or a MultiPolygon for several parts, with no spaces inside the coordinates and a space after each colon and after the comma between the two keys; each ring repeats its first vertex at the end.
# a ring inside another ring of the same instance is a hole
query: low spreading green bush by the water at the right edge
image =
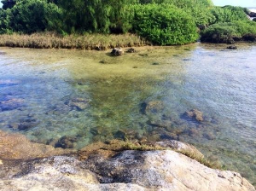
{"type": "Polygon", "coordinates": [[[233,21],[217,23],[201,32],[201,41],[210,43],[234,43],[239,40],[256,40],[256,23],[233,21]]]}

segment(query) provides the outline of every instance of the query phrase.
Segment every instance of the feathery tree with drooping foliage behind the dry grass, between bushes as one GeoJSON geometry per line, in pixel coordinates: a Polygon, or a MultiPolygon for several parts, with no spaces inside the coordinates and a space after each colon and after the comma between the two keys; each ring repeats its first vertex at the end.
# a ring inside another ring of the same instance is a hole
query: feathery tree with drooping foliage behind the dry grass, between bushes
{"type": "Polygon", "coordinates": [[[137,0],[59,0],[67,32],[128,32],[137,0]]]}

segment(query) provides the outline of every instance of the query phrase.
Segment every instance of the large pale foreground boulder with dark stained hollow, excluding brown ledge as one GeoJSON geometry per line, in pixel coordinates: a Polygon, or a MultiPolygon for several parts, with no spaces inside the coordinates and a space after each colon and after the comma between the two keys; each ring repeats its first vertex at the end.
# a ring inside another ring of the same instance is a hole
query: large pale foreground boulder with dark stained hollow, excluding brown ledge
{"type": "Polygon", "coordinates": [[[174,151],[124,151],[0,165],[0,189],[9,190],[255,190],[232,171],[212,170],[174,151]]]}

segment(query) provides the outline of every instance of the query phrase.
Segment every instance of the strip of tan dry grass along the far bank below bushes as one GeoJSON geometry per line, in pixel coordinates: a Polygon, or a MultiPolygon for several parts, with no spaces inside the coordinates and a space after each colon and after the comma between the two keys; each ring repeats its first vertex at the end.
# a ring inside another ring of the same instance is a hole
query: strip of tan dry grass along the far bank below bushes
{"type": "Polygon", "coordinates": [[[52,32],[0,35],[0,46],[35,49],[113,49],[114,47],[138,47],[148,45],[134,34],[104,35],[86,34],[62,37],[52,32]]]}

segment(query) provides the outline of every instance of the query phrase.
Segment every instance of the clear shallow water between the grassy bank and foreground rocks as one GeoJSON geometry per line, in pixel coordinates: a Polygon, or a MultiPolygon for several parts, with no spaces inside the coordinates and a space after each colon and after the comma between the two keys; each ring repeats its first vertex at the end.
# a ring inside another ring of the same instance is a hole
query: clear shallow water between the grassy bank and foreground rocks
{"type": "Polygon", "coordinates": [[[148,47],[120,57],[0,48],[0,129],[55,146],[67,136],[74,148],[177,139],[256,182],[256,44],[225,48],[148,47]],[[150,101],[160,108],[143,111],[150,101]],[[202,123],[183,118],[195,108],[202,123]]]}

